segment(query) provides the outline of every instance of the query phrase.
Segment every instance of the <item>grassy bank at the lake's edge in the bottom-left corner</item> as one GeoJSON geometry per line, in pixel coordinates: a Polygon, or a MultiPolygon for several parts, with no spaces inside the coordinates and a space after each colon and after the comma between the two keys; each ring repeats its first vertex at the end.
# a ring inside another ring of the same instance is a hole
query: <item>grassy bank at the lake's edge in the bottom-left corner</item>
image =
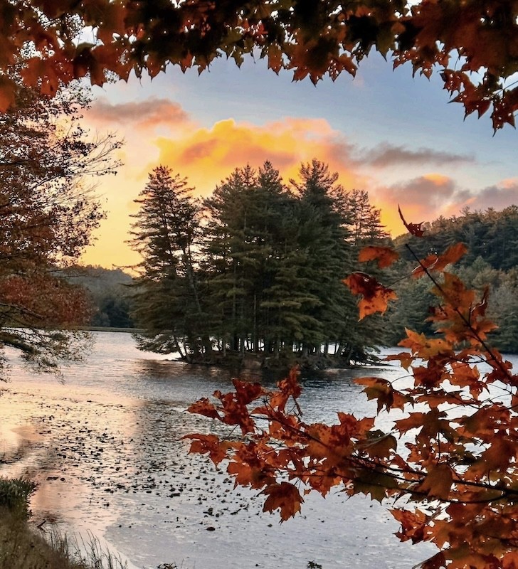
{"type": "Polygon", "coordinates": [[[65,537],[31,526],[28,500],[35,486],[0,479],[0,569],[124,569],[95,540],[79,547],[65,537]]]}

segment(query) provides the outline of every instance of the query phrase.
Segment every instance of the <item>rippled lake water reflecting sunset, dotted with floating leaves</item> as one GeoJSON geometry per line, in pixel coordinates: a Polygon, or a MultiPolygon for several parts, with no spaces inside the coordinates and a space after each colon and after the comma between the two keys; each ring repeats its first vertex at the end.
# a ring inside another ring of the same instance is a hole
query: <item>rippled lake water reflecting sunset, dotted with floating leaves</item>
{"type": "MultiPolygon", "coordinates": [[[[185,410],[215,389],[230,390],[231,373],[138,351],[129,334],[93,338],[88,360],[65,368],[63,381],[35,376],[14,358],[0,396],[0,475],[38,482],[31,509],[36,523],[46,520],[43,528],[95,536],[132,569],[305,569],[309,561],[323,569],[410,569],[435,552],[400,543],[384,507],[339,491],[307,496],[302,515],[280,525],[278,515],[263,514],[261,496],[234,490],[181,440],[218,428],[185,410]]],[[[403,371],[310,373],[302,378],[305,420],[373,413],[351,381],[365,375],[403,371]]]]}

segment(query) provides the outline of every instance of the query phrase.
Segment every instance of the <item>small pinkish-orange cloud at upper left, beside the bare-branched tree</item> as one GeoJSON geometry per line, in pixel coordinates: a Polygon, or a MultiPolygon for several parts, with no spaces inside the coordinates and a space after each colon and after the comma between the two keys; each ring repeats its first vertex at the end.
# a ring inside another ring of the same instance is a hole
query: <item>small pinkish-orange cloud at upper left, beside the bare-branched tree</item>
{"type": "Polygon", "coordinates": [[[88,110],[87,119],[103,126],[116,124],[128,129],[184,127],[186,124],[191,124],[189,115],[178,103],[157,97],[115,104],[107,99],[99,99],[88,110]]]}

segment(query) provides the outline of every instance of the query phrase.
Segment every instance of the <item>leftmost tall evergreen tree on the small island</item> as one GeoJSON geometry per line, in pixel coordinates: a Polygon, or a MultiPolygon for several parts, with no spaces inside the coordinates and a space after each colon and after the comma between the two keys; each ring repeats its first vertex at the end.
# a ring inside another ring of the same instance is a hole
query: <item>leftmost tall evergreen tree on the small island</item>
{"type": "Polygon", "coordinates": [[[184,358],[211,351],[193,252],[199,208],[190,192],[179,174],[173,176],[166,166],[155,168],[135,200],[139,212],[131,241],[142,255],[133,315],[146,330],[139,346],[152,351],[170,351],[172,346],[184,358]]]}

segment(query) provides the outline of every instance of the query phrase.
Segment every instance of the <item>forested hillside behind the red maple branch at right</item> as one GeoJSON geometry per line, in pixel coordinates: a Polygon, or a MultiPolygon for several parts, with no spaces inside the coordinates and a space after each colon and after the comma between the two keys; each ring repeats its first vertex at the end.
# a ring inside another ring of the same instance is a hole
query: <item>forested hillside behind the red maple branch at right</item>
{"type": "MultiPolygon", "coordinates": [[[[391,268],[393,289],[398,294],[386,314],[385,343],[395,344],[404,334],[404,328],[419,332],[433,332],[425,321],[428,307],[436,299],[430,294],[430,283],[413,280],[416,267],[414,255],[426,257],[441,252],[453,243],[465,243],[467,254],[451,270],[470,287],[482,290],[490,287],[488,317],[498,329],[490,334],[490,342],[505,352],[518,351],[518,206],[502,211],[462,211],[460,216],[438,218],[423,224],[425,238],[402,235],[394,244],[401,255],[391,268]],[[408,278],[401,279],[403,275],[408,278]]],[[[387,282],[391,285],[390,278],[387,282]]]]}

